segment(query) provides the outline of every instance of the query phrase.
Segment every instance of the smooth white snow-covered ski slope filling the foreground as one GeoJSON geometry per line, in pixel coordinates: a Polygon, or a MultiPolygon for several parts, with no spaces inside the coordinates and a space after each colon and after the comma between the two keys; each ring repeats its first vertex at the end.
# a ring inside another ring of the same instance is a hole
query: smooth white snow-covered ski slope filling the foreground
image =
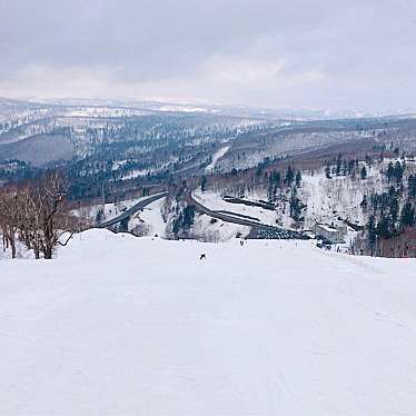
{"type": "Polygon", "coordinates": [[[0,261],[0,414],[412,415],[415,299],[412,259],[90,230],[0,261]]]}

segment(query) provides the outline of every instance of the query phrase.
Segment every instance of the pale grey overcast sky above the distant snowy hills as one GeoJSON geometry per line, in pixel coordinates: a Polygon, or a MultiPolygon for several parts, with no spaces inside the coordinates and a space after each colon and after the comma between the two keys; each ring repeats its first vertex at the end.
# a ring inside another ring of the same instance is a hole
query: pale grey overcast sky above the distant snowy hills
{"type": "Polygon", "coordinates": [[[0,0],[0,96],[416,109],[414,0],[0,0]]]}

